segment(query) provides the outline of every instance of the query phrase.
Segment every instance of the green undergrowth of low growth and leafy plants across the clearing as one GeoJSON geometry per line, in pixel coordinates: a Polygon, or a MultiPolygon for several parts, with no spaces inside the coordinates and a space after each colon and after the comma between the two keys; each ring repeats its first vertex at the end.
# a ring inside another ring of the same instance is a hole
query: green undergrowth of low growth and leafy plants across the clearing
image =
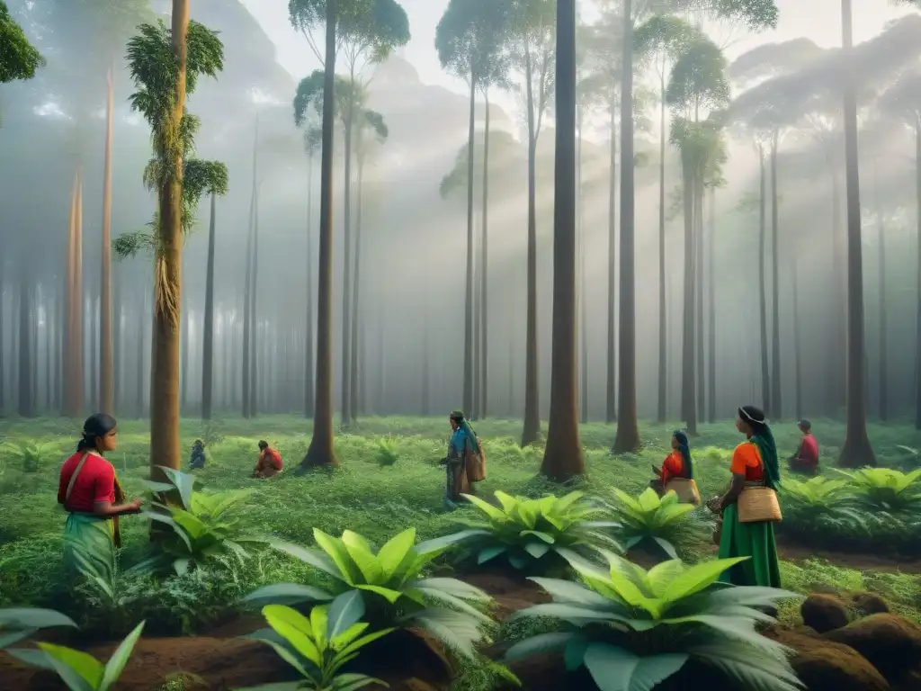
{"type": "MultiPolygon", "coordinates": [[[[905,451],[921,446],[921,439],[906,427],[871,427],[885,467],[842,474],[828,459],[843,441],[843,427],[831,422],[814,426],[825,473],[811,479],[783,473],[781,539],[820,547],[834,542],[869,555],[921,553],[921,470],[916,454],[905,451]]],[[[146,516],[124,517],[118,568],[108,579],[90,578],[74,597],[62,568],[64,513],[55,498],[58,469],[76,441],[76,426],[60,420],[3,421],[0,607],[57,610],[80,627],[82,636],[111,640],[130,639],[142,621],[146,636],[188,635],[207,632],[251,610],[254,603],[277,607],[306,600],[325,607],[310,610],[325,617],[324,626],[334,619],[351,622],[352,628],[335,629],[336,637],[327,628],[322,638],[321,621],[313,620],[308,610],[302,610],[303,616],[284,607],[268,610],[266,618],[275,635],[285,638],[280,627],[300,646],[293,658],[300,665],[298,673],[332,679],[340,674],[336,656],[368,633],[417,627],[427,628],[470,661],[461,665],[455,689],[483,691],[491,680],[508,676],[504,668],[482,659],[474,643],[492,639],[515,644],[542,633],[565,632],[552,612],[534,611],[533,617],[495,623],[489,616],[488,596],[462,580],[442,578],[445,573],[453,570],[458,575],[505,560],[526,576],[565,578],[574,560],[592,555],[596,561],[598,555],[620,559],[613,553],[626,550],[629,557],[631,548],[658,552],[662,558],[679,556],[692,566],[712,563],[708,560],[713,546],[703,530],[709,520],[705,511],[646,492],[649,464],[658,465],[668,453],[670,428],[644,427],[644,451],[615,458],[609,451],[612,427],[582,427],[589,475],[564,487],[536,474],[542,450],[518,446],[518,422],[486,421],[477,430],[488,456],[488,479],[477,486],[478,498],[471,505],[445,512],[444,471],[437,461],[444,455],[449,429],[442,418],[364,421],[336,438],[340,469],[301,477],[291,472],[309,445],[309,429],[300,418],[216,421],[206,426],[186,420],[182,443],[190,449],[193,439],[205,439],[207,464],[194,474],[170,473],[169,486],[147,482],[146,428],[123,423],[119,449],[109,458],[126,494],[169,489],[181,500],[170,507],[148,501],[146,516]],[[271,480],[250,478],[259,439],[281,452],[284,474],[271,480]],[[150,520],[163,524],[166,533],[153,548],[147,539],[150,520]],[[470,557],[467,563],[464,556],[470,557]],[[562,565],[562,573],[551,564],[554,560],[562,565]],[[438,577],[433,578],[433,571],[438,577]],[[354,627],[362,627],[362,632],[354,627]],[[346,630],[349,636],[337,638],[346,630]]],[[[782,454],[795,448],[798,435],[793,426],[777,426],[775,435],[782,454]]],[[[702,426],[701,438],[692,442],[702,496],[716,495],[726,485],[731,450],[739,440],[729,423],[702,426]]],[[[632,577],[641,592],[647,591],[640,609],[646,608],[652,617],[638,627],[670,626],[659,621],[668,617],[652,612],[648,601],[665,597],[661,593],[668,591],[668,583],[682,579],[678,562],[670,563],[675,566],[637,571],[632,577]]],[[[893,611],[921,620],[917,575],[836,568],[824,562],[785,562],[782,571],[790,591],[869,591],[886,598],[893,611]]],[[[613,573],[604,579],[614,579],[613,573]]],[[[597,587],[587,587],[613,603],[605,611],[620,616],[624,584],[604,579],[595,582],[597,587]]],[[[554,598],[568,593],[565,596],[592,599],[570,588],[583,586],[560,582],[570,585],[555,586],[555,594],[548,588],[554,598]]],[[[637,616],[634,605],[630,607],[631,616],[637,616]]],[[[782,620],[798,616],[795,605],[787,602],[780,603],[779,610],[782,620]]],[[[687,616],[699,614],[693,607],[685,611],[687,616]]],[[[0,626],[0,640],[12,631],[9,624],[0,626]]],[[[16,631],[18,636],[21,630],[16,631]]],[[[583,642],[578,637],[587,632],[591,634],[591,627],[568,630],[576,636],[571,639],[583,642]]],[[[289,652],[297,649],[292,639],[286,644],[273,640],[289,652]]],[[[630,657],[638,653],[631,652],[629,637],[619,645],[622,652],[608,650],[603,654],[609,658],[601,660],[603,651],[580,643],[577,662],[589,671],[599,664],[641,663],[630,657]]],[[[670,654],[693,657],[705,652],[670,654]]],[[[102,669],[87,664],[96,672],[102,669]]],[[[764,672],[783,677],[780,668],[764,672]]],[[[357,680],[346,676],[340,681],[357,680]]]]}

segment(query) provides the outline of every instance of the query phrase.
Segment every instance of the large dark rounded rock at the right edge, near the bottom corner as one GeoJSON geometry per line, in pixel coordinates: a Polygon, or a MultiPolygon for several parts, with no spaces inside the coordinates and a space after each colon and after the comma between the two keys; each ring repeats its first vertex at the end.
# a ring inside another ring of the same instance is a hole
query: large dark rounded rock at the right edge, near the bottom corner
{"type": "Polygon", "coordinates": [[[921,662],[921,626],[904,616],[871,615],[829,631],[825,638],[857,650],[891,681],[921,662]]]}

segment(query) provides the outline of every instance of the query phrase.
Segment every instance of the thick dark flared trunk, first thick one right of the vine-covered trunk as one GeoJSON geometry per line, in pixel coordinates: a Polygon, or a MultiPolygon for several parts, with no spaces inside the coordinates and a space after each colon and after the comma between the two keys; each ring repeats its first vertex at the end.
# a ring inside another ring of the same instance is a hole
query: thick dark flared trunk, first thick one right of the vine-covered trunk
{"type": "Polygon", "coordinates": [[[332,449],[332,125],[336,63],[335,18],[339,0],[326,0],[326,59],[323,73],[323,124],[320,161],[320,267],[317,281],[317,402],[313,437],[303,467],[338,465],[332,449]]]}

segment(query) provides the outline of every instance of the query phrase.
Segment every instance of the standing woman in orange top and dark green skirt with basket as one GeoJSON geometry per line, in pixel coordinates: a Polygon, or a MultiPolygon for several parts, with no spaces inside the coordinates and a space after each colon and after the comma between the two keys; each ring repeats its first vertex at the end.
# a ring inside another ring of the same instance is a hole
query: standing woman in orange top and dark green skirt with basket
{"type": "Polygon", "coordinates": [[[732,453],[732,482],[729,490],[717,499],[713,508],[723,516],[719,558],[749,558],[729,568],[721,580],[734,585],[779,588],[780,561],[777,558],[777,545],[774,540],[774,523],[740,522],[737,504],[746,484],[764,485],[776,491],[780,482],[780,471],[774,434],[767,425],[764,412],[753,405],[739,408],[736,428],[746,439],[732,453]]]}

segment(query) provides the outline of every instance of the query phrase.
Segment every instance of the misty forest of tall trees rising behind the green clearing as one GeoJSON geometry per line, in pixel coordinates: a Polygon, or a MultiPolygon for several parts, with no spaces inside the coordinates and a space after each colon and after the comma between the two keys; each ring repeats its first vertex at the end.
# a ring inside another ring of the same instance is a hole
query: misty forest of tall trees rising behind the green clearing
{"type": "Polygon", "coordinates": [[[462,406],[560,476],[579,419],[846,415],[851,465],[921,427],[916,14],[730,60],[773,3],[452,0],[463,96],[366,5],[289,4],[299,80],[234,0],[0,5],[4,415],[149,416],[175,465],[179,416],[297,413],[322,464],[333,412],[462,406]]]}

